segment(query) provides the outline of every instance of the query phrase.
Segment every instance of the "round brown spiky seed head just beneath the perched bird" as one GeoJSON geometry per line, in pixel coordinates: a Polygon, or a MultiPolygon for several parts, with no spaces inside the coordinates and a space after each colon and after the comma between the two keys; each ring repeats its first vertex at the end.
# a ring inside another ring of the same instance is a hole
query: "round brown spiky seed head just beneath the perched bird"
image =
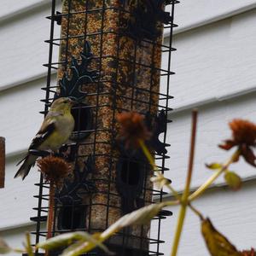
{"type": "Polygon", "coordinates": [[[56,186],[72,171],[71,166],[65,160],[51,155],[38,160],[38,167],[44,179],[55,183],[56,186]]]}

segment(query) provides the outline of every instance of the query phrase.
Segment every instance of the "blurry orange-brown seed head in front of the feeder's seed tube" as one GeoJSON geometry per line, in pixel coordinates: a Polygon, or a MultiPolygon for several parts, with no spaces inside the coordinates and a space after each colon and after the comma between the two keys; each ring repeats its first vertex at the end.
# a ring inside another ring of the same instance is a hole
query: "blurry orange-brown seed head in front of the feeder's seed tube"
{"type": "Polygon", "coordinates": [[[125,147],[139,147],[139,140],[146,141],[150,132],[144,123],[144,117],[137,112],[119,113],[117,120],[120,125],[119,138],[125,141],[125,147]]]}

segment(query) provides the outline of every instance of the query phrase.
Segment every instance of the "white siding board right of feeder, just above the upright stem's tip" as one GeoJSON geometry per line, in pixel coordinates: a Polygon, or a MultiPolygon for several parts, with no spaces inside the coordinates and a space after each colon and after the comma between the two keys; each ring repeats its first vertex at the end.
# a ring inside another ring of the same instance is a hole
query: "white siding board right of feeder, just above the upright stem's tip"
{"type": "MultiPolygon", "coordinates": [[[[256,9],[177,34],[170,93],[173,108],[189,108],[255,90],[256,9]],[[189,93],[188,93],[189,92],[189,93]]],[[[166,55],[163,66],[166,67],[166,55]]],[[[163,86],[166,81],[163,79],[163,86]]]]}

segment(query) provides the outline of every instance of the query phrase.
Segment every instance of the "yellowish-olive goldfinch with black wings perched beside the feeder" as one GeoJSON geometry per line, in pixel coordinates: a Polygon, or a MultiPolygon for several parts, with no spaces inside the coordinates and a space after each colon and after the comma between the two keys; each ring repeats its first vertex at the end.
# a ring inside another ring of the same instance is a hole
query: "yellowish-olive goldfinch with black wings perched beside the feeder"
{"type": "Polygon", "coordinates": [[[38,156],[30,154],[29,150],[50,149],[56,151],[61,148],[62,144],[67,142],[74,128],[74,119],[71,114],[73,103],[74,102],[67,97],[58,98],[52,103],[40,130],[32,139],[26,157],[17,164],[20,165],[20,163],[24,161],[19,171],[15,174],[15,177],[20,176],[24,179],[31,167],[35,165],[38,156]]]}

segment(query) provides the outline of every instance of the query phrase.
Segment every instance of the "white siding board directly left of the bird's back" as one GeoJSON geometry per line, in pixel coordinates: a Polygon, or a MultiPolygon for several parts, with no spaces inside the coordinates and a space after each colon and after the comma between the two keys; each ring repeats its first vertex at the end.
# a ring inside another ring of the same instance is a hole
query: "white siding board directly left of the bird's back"
{"type": "Polygon", "coordinates": [[[0,93],[0,134],[6,137],[6,153],[26,150],[43,121],[46,79],[39,79],[0,93]]]}

